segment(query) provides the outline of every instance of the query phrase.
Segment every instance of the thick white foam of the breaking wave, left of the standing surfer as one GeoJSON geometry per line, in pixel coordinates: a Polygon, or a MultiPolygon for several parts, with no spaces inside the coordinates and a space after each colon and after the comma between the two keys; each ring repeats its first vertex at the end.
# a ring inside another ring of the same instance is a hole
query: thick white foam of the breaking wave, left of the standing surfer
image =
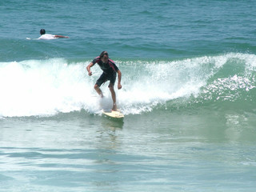
{"type": "Polygon", "coordinates": [[[83,63],[67,65],[63,59],[1,63],[0,115],[49,115],[97,108],[84,70],[83,63]]]}

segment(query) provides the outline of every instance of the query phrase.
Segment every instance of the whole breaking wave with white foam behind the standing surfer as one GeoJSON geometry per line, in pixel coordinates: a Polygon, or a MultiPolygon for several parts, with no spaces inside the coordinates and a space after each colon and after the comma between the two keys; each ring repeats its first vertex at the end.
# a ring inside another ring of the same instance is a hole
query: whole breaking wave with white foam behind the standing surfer
{"type": "MultiPolygon", "coordinates": [[[[140,114],[156,106],[255,101],[256,55],[222,54],[181,60],[114,60],[122,71],[118,106],[124,114],[140,114]],[[182,102],[181,102],[182,101],[182,102]]],[[[100,102],[93,86],[102,71],[90,61],[63,58],[0,63],[0,116],[54,115],[86,110],[97,114],[100,102]]],[[[102,86],[104,105],[110,91],[102,86]]],[[[186,107],[185,107],[186,108],[186,107]]]]}

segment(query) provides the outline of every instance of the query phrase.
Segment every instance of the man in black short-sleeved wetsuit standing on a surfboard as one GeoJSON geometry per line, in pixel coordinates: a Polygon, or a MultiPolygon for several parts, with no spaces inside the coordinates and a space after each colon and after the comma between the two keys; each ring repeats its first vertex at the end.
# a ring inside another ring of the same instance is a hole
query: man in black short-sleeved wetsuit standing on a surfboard
{"type": "Polygon", "coordinates": [[[100,68],[103,70],[103,73],[100,76],[100,78],[98,78],[96,84],[94,85],[94,89],[103,98],[103,94],[102,94],[102,90],[100,89],[100,86],[102,86],[102,83],[110,80],[109,89],[110,89],[112,100],[113,100],[112,110],[118,110],[118,107],[116,104],[116,95],[114,92],[114,82],[118,73],[118,90],[122,89],[122,85],[121,85],[122,73],[118,69],[118,66],[115,65],[114,61],[112,61],[109,58],[109,54],[106,51],[102,51],[102,53],[97,58],[94,58],[94,60],[90,62],[90,64],[86,67],[86,70],[88,71],[88,74],[90,76],[92,75],[92,72],[90,71],[90,67],[94,66],[95,63],[98,63],[98,66],[100,66],[100,68]]]}

